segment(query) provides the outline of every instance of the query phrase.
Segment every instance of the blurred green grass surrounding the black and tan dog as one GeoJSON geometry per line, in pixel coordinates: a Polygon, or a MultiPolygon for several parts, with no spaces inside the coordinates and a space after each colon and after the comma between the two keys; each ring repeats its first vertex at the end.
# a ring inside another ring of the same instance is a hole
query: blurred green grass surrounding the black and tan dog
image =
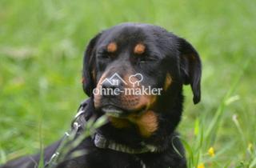
{"type": "Polygon", "coordinates": [[[86,98],[82,54],[94,34],[149,22],[186,38],[202,57],[202,102],[194,106],[185,87],[178,128],[190,168],[256,167],[255,7],[249,0],[1,0],[0,163],[68,130],[86,98]]]}

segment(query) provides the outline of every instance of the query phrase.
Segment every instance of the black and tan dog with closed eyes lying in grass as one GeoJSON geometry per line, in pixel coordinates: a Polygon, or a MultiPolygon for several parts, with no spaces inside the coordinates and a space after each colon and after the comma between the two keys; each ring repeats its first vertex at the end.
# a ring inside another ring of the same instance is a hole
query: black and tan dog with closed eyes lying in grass
{"type": "MultiPolygon", "coordinates": [[[[90,98],[82,117],[86,121],[106,114],[108,122],[73,149],[86,154],[57,167],[185,168],[182,143],[174,130],[182,116],[182,86],[190,84],[194,104],[200,101],[201,61],[194,47],[159,26],[125,23],[91,39],[83,63],[83,89],[90,98]],[[132,85],[131,76],[140,80],[139,85],[132,85]],[[160,94],[122,92],[134,87],[162,89],[160,94]],[[120,93],[95,94],[95,89],[120,93]]],[[[46,148],[46,162],[59,142],[46,148]]],[[[2,167],[34,168],[39,158],[20,158],[2,167]]]]}

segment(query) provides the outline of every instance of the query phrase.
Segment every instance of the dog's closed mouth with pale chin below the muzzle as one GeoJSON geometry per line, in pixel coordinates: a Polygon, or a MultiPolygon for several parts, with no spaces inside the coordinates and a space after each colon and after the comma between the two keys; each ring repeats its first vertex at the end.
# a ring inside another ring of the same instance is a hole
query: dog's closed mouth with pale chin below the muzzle
{"type": "Polygon", "coordinates": [[[139,110],[126,110],[119,106],[114,105],[106,105],[102,106],[102,112],[104,112],[107,116],[114,118],[128,118],[131,114],[133,115],[141,115],[146,111],[146,106],[143,106],[139,110]]]}

